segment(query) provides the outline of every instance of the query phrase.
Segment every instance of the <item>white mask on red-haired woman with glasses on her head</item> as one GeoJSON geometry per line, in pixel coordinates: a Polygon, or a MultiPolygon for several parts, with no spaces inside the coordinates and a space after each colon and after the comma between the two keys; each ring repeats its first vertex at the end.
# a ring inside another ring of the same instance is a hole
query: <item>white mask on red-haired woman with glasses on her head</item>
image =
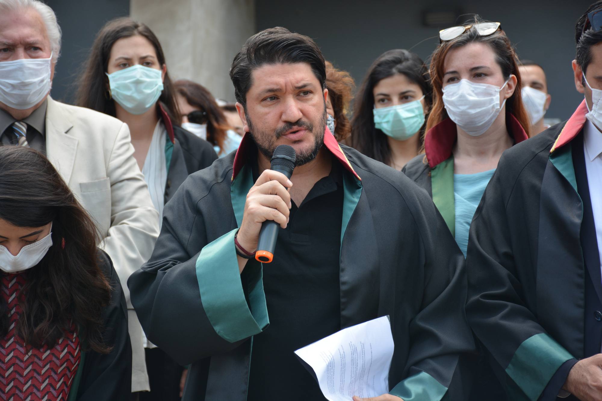
{"type": "Polygon", "coordinates": [[[501,87],[489,84],[476,84],[461,79],[460,82],[443,88],[443,104],[447,115],[468,135],[477,137],[485,134],[495,121],[506,99],[500,104],[501,87]]]}

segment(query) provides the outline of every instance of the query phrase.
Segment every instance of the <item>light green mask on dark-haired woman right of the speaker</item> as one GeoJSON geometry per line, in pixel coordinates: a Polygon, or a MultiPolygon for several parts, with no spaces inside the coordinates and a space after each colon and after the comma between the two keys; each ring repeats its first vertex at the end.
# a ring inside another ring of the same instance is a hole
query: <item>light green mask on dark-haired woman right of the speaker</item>
{"type": "Polygon", "coordinates": [[[374,108],[374,126],[396,140],[411,138],[424,124],[422,99],[424,96],[406,104],[374,108]]]}

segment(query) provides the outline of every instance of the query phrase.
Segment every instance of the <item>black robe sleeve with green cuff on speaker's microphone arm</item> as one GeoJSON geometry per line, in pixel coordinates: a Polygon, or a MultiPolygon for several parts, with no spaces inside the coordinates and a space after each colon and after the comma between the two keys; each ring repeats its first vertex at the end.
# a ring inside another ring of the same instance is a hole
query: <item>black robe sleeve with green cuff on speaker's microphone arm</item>
{"type": "MultiPolygon", "coordinates": [[[[236,229],[210,243],[206,238],[197,204],[215,183],[201,173],[188,177],[166,205],[151,259],[128,279],[147,338],[181,365],[229,352],[267,326],[261,266],[249,261],[240,275],[236,229]]],[[[219,210],[211,221],[229,229],[232,212],[219,210]]]]}

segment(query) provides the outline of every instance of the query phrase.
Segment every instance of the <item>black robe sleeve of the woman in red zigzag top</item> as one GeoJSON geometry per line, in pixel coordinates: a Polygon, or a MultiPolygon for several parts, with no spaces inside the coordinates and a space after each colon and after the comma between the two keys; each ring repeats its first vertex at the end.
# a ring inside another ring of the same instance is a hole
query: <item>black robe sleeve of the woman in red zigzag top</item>
{"type": "Polygon", "coordinates": [[[99,252],[101,269],[111,286],[111,301],[105,309],[105,344],[113,350],[104,355],[85,352],[78,401],[129,400],[132,391],[132,346],[123,289],[107,253],[99,252]]]}

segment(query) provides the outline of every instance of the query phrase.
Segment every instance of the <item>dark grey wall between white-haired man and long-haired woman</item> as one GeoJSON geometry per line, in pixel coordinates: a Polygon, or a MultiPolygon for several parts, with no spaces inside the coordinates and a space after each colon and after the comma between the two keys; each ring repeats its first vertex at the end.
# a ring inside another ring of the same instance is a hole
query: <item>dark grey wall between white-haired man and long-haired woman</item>
{"type": "Polygon", "coordinates": [[[67,103],[75,99],[73,81],[98,31],[108,20],[129,14],[129,0],[46,0],[63,30],[61,58],[55,69],[51,96],[67,103]]]}

